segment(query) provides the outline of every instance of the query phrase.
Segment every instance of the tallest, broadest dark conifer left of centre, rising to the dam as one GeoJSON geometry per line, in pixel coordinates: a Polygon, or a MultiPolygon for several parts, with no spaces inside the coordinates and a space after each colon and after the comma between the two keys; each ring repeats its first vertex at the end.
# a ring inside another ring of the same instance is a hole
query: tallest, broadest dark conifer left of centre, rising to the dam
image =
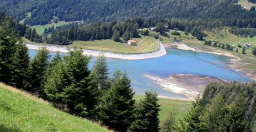
{"type": "Polygon", "coordinates": [[[90,77],[88,63],[90,57],[83,55],[82,49],[74,48],[64,57],[65,87],[61,93],[62,104],[71,113],[93,118],[98,90],[90,77]]]}

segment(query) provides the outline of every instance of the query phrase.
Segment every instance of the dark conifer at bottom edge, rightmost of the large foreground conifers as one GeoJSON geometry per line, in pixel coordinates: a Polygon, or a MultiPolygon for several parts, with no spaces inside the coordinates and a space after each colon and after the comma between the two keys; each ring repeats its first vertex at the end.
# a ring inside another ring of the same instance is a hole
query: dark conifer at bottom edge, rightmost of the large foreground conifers
{"type": "Polygon", "coordinates": [[[141,100],[136,108],[136,120],[131,126],[131,131],[159,131],[159,107],[157,94],[146,91],[146,98],[141,100]]]}

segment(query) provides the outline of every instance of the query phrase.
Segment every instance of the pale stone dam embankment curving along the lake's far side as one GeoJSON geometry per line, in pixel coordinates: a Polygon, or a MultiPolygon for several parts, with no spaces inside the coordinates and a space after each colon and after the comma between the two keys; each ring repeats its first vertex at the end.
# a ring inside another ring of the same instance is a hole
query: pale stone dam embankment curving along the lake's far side
{"type": "MultiPolygon", "coordinates": [[[[67,53],[67,49],[73,49],[69,47],[60,47],[55,45],[42,45],[42,44],[30,44],[26,43],[28,49],[38,50],[40,47],[47,47],[50,52],[60,52],[60,53],[67,53]]],[[[85,55],[92,55],[93,57],[98,57],[102,51],[100,50],[90,50],[90,49],[83,49],[83,54],[85,55]]],[[[165,50],[164,45],[159,42],[159,49],[155,52],[150,53],[139,53],[139,54],[132,54],[132,53],[114,53],[114,52],[103,52],[105,57],[107,58],[117,58],[117,59],[129,59],[129,60],[139,60],[139,59],[149,59],[149,58],[156,58],[165,55],[167,52],[165,50]]]]}

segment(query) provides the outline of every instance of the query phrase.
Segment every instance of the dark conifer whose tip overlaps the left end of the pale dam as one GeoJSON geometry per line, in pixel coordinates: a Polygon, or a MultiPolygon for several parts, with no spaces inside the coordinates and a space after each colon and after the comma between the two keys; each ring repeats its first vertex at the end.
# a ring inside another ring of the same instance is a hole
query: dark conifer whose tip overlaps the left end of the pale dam
{"type": "Polygon", "coordinates": [[[45,82],[49,59],[49,51],[46,47],[42,47],[40,50],[38,50],[28,68],[29,84],[26,86],[26,90],[36,93],[42,98],[46,98],[43,85],[45,82]]]}

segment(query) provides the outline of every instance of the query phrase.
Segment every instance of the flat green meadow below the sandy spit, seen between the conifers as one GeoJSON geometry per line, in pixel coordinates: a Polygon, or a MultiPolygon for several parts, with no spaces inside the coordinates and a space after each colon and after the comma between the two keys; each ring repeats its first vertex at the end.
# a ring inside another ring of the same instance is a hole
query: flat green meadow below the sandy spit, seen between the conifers
{"type": "MultiPolygon", "coordinates": [[[[140,99],[144,99],[145,96],[135,94],[134,98],[136,101],[139,101],[140,99]]],[[[161,111],[159,112],[160,121],[163,121],[165,117],[169,115],[170,111],[173,111],[176,114],[176,118],[183,119],[192,106],[192,101],[177,99],[159,98],[158,103],[161,105],[161,111]]]]}

